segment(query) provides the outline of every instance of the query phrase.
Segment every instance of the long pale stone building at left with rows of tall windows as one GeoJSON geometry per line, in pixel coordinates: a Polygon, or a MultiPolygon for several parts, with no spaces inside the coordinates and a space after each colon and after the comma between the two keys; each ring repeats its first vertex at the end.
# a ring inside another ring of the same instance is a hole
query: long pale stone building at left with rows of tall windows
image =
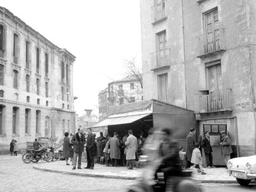
{"type": "Polygon", "coordinates": [[[0,148],[75,131],[75,58],[0,7],[0,148]]]}

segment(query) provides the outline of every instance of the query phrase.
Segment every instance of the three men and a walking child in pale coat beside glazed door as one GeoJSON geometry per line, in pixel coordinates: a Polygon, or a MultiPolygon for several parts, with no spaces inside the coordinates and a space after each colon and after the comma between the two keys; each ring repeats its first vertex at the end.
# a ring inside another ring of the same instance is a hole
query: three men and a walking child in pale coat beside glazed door
{"type": "MultiPolygon", "coordinates": [[[[204,149],[205,156],[205,168],[215,168],[212,164],[212,147],[210,142],[210,133],[208,131],[204,132],[204,137],[200,135],[198,140],[195,139],[196,129],[194,127],[190,128],[190,132],[186,138],[186,168],[195,168],[196,165],[199,166],[198,172],[201,174],[206,174],[202,168],[202,148],[204,149]],[[193,164],[191,166],[191,164],[193,164]]],[[[228,166],[228,160],[230,159],[230,154],[232,153],[232,148],[230,145],[230,138],[226,135],[225,131],[220,132],[221,140],[221,155],[224,156],[226,166],[228,166]]],[[[227,169],[227,167],[226,167],[227,169]]]]}

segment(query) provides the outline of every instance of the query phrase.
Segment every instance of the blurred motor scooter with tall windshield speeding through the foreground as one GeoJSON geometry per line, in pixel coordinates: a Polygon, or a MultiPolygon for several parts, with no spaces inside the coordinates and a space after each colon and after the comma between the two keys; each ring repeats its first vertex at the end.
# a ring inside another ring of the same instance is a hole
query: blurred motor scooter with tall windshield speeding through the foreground
{"type": "Polygon", "coordinates": [[[192,171],[184,169],[178,175],[168,176],[164,172],[170,167],[163,166],[160,156],[161,131],[149,135],[143,145],[143,155],[139,158],[144,171],[136,184],[128,187],[127,192],[202,192],[201,188],[191,179],[192,171]]]}

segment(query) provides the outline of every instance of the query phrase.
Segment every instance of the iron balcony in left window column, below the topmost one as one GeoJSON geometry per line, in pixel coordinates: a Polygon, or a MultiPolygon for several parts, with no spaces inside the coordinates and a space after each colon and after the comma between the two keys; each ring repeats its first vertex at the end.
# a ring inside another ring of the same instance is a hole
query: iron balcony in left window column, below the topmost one
{"type": "Polygon", "coordinates": [[[161,68],[169,68],[171,66],[170,48],[150,53],[150,61],[152,71],[161,68]]]}

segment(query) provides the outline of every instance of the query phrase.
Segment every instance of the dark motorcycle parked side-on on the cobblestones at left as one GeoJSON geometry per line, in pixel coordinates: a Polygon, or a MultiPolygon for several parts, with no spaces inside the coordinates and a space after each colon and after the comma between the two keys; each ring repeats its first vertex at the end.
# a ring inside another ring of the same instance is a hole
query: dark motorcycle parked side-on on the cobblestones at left
{"type": "Polygon", "coordinates": [[[34,149],[26,149],[26,150],[21,150],[22,153],[22,161],[24,163],[37,163],[39,160],[44,160],[47,162],[52,161],[51,153],[49,151],[49,148],[47,147],[41,147],[38,150],[34,149]]]}

